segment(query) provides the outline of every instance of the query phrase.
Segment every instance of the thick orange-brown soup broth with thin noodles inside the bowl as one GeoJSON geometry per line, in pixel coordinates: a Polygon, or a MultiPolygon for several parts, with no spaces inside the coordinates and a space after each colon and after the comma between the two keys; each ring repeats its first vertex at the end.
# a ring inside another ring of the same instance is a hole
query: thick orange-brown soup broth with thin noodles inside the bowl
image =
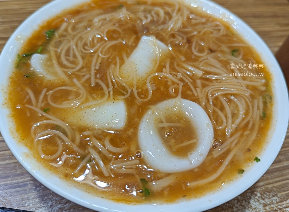
{"type": "Polygon", "coordinates": [[[59,177],[114,201],[200,197],[246,172],[266,142],[273,97],[265,65],[227,23],[181,1],[92,1],[40,26],[15,63],[8,101],[21,142],[59,177]],[[145,39],[156,54],[138,60],[153,68],[142,76],[134,64],[125,75],[145,39]],[[196,149],[194,123],[155,107],[168,99],[200,105],[214,130],[203,163],[183,172],[161,172],[139,146],[152,110],[162,121],[151,129],[171,154],[196,149]],[[116,118],[97,118],[109,113],[116,118]]]}

